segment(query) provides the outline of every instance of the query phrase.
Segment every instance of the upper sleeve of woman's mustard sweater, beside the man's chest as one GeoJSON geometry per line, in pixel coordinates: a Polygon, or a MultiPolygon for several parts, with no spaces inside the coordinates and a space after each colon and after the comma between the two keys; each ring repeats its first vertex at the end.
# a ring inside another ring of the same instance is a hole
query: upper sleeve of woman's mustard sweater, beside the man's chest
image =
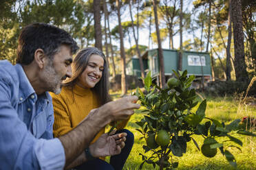
{"type": "Polygon", "coordinates": [[[50,95],[52,95],[52,104],[54,106],[54,137],[59,137],[72,130],[70,112],[61,95],[55,95],[53,93],[50,93],[50,95]]]}

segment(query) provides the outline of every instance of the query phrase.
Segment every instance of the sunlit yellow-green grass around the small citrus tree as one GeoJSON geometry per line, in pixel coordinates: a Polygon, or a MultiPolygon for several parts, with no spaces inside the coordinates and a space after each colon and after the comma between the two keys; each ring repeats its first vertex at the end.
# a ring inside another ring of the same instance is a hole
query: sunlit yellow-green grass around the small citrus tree
{"type": "MultiPolygon", "coordinates": [[[[113,96],[119,97],[120,95],[115,93],[113,96]]],[[[234,119],[241,119],[244,116],[256,117],[256,106],[241,105],[239,104],[239,101],[235,100],[233,97],[207,98],[206,117],[224,121],[226,124],[234,119]]],[[[142,119],[142,117],[143,114],[136,111],[127,125],[127,129],[131,130],[135,136],[134,147],[131,150],[131,154],[129,155],[124,168],[127,170],[139,169],[140,163],[142,162],[139,153],[144,154],[142,145],[145,145],[145,141],[139,140],[141,135],[136,131],[138,125],[135,123],[137,120],[142,119]]],[[[233,134],[233,136],[239,138],[243,142],[242,151],[234,148],[228,149],[235,156],[238,169],[256,169],[256,137],[252,138],[238,134],[233,134]]],[[[202,146],[203,138],[198,136],[193,136],[193,138],[198,142],[198,145],[202,146]]],[[[149,155],[150,151],[147,154],[149,155]]],[[[198,149],[196,149],[192,141],[188,143],[186,154],[182,157],[173,157],[173,160],[179,162],[178,169],[233,169],[224,156],[220,154],[219,150],[214,158],[206,158],[200,151],[198,151],[198,149]]],[[[142,169],[154,168],[152,165],[145,164],[142,169]]],[[[156,169],[158,169],[158,167],[156,167],[156,169]]]]}

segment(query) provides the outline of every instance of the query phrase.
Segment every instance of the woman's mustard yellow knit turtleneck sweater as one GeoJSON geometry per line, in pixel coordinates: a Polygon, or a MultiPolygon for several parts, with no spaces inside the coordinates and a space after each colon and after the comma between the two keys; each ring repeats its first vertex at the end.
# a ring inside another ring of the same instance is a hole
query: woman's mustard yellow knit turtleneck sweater
{"type": "MultiPolygon", "coordinates": [[[[50,93],[50,95],[52,95],[54,106],[54,137],[70,132],[87,117],[90,110],[100,106],[96,94],[90,88],[81,88],[78,85],[75,85],[73,90],[69,87],[63,87],[59,95],[54,93],[50,93]]],[[[129,119],[121,121],[116,128],[124,128],[128,121],[129,119]]],[[[104,133],[105,128],[98,132],[92,143],[104,133]]]]}

